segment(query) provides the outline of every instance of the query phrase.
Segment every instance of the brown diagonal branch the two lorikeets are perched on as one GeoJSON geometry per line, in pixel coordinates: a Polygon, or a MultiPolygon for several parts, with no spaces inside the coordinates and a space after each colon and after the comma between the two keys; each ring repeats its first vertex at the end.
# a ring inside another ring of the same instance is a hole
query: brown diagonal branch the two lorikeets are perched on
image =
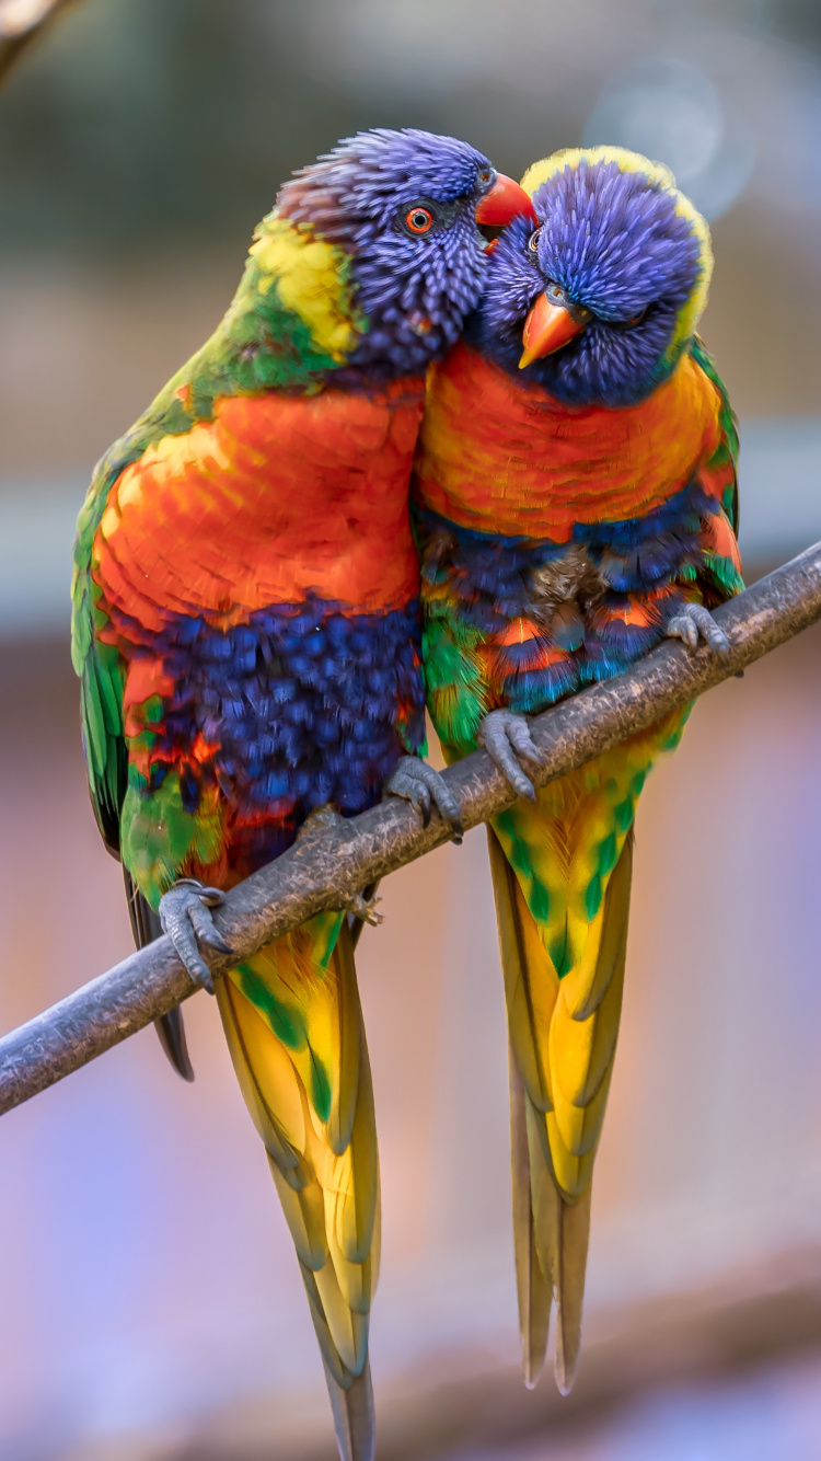
{"type": "MultiPolygon", "coordinates": [[[[716,611],[730,641],[729,663],[701,647],[666,643],[630,674],[595,685],[532,722],[545,752],[539,785],[564,776],[660,716],[704,694],[821,618],[821,543],[716,611]]],[[[485,751],[446,771],[475,827],[514,796],[485,751]]],[[[216,915],[235,954],[209,957],[215,974],[321,909],[340,907],[359,888],[438,847],[448,828],[437,812],[424,828],[406,802],[390,799],[351,821],[323,828],[235,887],[216,915]]],[[[0,1039],[0,1113],[29,1100],[194,993],[168,938],[124,958],[28,1024],[0,1039]]]]}

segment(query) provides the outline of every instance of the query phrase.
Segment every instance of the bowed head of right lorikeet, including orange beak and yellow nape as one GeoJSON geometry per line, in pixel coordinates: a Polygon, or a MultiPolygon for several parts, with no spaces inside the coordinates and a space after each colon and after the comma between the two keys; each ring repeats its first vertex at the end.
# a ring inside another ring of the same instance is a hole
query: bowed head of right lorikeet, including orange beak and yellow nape
{"type": "Polygon", "coordinates": [[[668,168],[622,148],[557,152],[495,247],[481,346],[574,405],[630,405],[675,370],[707,302],[710,232],[668,168]]]}

